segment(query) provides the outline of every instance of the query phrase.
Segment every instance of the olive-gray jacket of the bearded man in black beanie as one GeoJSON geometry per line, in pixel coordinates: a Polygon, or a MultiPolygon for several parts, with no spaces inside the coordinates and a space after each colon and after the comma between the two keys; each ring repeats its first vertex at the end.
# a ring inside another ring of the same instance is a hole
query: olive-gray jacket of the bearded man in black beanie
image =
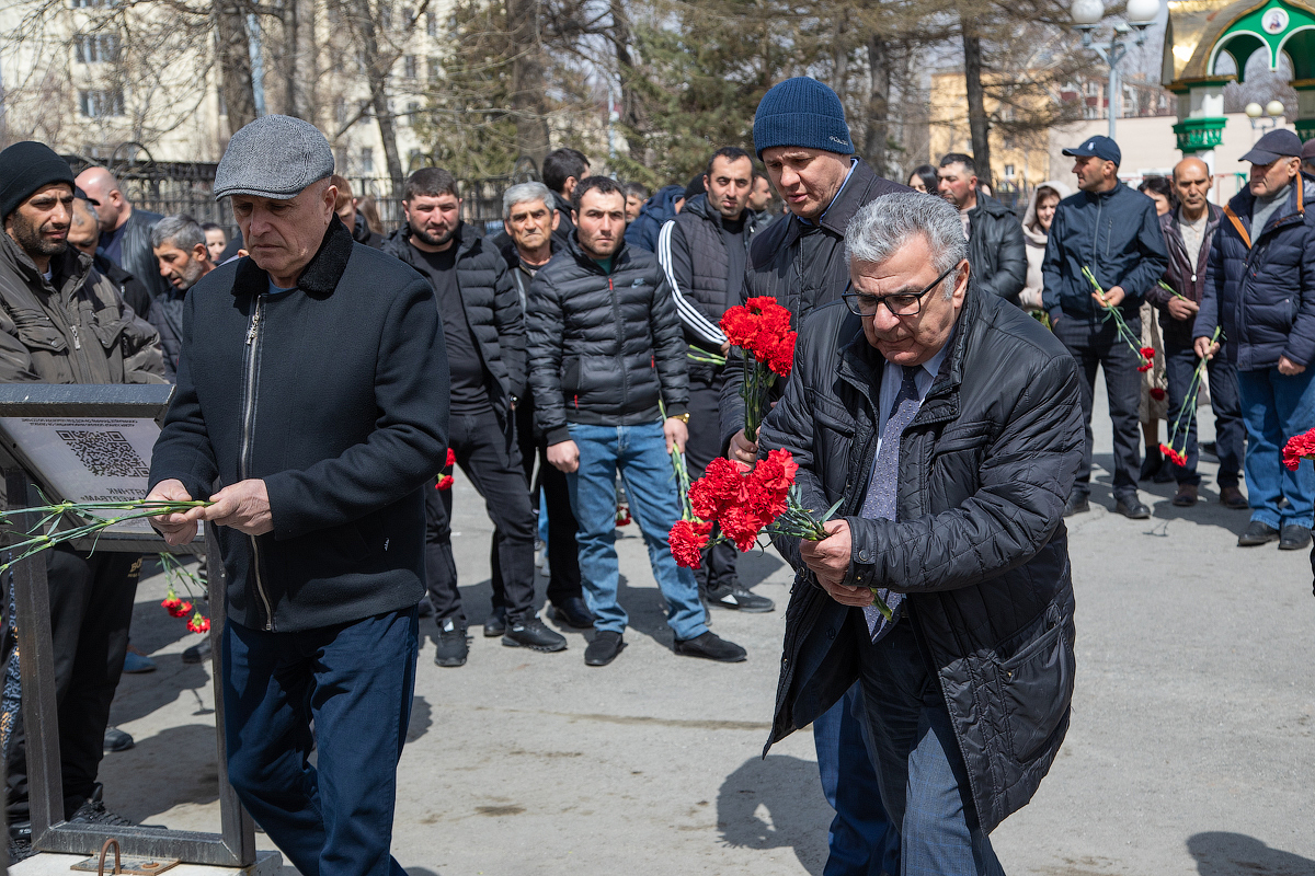
{"type": "Polygon", "coordinates": [[[159,336],[91,256],[67,247],[50,269],[0,232],[0,382],[166,382],[159,336]]]}

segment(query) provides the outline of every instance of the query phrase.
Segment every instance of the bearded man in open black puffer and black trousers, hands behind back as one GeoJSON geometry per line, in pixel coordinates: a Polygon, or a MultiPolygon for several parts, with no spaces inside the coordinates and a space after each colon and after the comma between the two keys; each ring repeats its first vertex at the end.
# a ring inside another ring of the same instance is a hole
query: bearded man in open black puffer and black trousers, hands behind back
{"type": "MultiPolygon", "coordinates": [[[[560,651],[567,640],[534,612],[534,510],[513,429],[525,394],[525,317],[506,261],[462,222],[462,198],[447,171],[412,173],[402,193],[406,222],[384,242],[434,288],[452,376],[448,447],[484,496],[493,520],[493,611],[484,634],[509,647],[560,651]]],[[[437,479],[435,479],[437,485],[437,479]]],[[[451,496],[426,490],[426,574],[438,624],[439,666],[462,666],[469,647],[452,559],[451,496]]]]}

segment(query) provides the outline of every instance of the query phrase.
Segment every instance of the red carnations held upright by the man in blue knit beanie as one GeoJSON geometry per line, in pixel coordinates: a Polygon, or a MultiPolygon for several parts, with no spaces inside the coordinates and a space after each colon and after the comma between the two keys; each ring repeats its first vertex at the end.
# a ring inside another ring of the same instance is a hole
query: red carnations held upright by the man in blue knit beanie
{"type": "Polygon", "coordinates": [[[777,377],[789,377],[794,366],[794,341],[798,334],[790,331],[790,311],[771,296],[750,298],[747,303],[731,307],[721,320],[726,339],[739,347],[744,359],[744,436],[757,440],[757,427],[767,412],[767,390],[777,377]]]}

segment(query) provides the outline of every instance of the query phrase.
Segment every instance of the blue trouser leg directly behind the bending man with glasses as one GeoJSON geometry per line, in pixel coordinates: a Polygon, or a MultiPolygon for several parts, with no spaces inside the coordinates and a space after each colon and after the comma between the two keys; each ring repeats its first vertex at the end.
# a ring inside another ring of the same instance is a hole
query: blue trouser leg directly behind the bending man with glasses
{"type": "Polygon", "coordinates": [[[881,806],[864,732],[863,686],[857,682],[813,721],[822,793],[835,809],[827,831],[822,876],[880,876],[899,872],[899,833],[881,806]],[[844,781],[840,781],[844,776],[844,781]]]}

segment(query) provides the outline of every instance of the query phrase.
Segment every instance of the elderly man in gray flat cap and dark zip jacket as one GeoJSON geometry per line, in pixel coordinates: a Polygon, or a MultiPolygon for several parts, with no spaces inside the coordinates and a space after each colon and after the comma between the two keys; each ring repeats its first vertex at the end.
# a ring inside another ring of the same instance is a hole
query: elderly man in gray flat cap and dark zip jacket
{"type": "Polygon", "coordinates": [[[434,293],[337,221],[333,152],[266,116],[214,179],[249,257],[197,282],[151,498],[171,544],[217,525],[229,780],[306,876],[384,876],[425,595],[422,487],[443,468],[434,293]],[[318,768],[308,760],[318,751],[318,768]]]}

